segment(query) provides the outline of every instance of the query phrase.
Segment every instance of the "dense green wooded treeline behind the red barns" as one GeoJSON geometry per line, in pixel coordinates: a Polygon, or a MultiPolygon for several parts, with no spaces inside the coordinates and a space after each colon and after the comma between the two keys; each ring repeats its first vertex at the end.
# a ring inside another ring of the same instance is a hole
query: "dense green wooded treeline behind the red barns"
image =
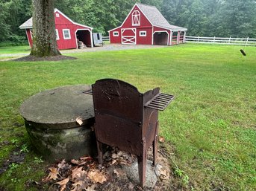
{"type": "MultiPolygon", "coordinates": [[[[189,36],[256,38],[256,0],[55,0],[55,7],[75,22],[108,35],[122,24],[135,2],[156,6],[171,25],[187,27],[189,36]]],[[[0,43],[25,41],[19,25],[32,16],[31,0],[0,1],[0,43]]]]}

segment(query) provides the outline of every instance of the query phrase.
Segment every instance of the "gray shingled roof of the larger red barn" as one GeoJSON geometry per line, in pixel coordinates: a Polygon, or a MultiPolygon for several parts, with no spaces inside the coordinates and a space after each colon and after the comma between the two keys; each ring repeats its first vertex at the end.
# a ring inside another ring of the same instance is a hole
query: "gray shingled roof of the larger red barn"
{"type": "Polygon", "coordinates": [[[145,16],[154,26],[164,27],[171,30],[187,30],[187,28],[184,27],[170,25],[169,22],[167,22],[167,20],[163,17],[162,13],[157,10],[157,7],[140,3],[137,3],[137,6],[143,11],[145,16]]]}

